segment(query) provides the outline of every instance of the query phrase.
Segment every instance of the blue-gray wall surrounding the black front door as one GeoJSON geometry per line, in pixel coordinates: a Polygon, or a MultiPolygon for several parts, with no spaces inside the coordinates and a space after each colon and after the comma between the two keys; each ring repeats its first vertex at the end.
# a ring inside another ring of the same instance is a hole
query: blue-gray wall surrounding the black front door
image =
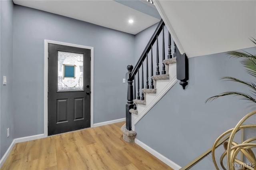
{"type": "Polygon", "coordinates": [[[18,5],[13,35],[15,138],[44,132],[44,39],[94,47],[94,123],[125,117],[133,35],[18,5]]]}

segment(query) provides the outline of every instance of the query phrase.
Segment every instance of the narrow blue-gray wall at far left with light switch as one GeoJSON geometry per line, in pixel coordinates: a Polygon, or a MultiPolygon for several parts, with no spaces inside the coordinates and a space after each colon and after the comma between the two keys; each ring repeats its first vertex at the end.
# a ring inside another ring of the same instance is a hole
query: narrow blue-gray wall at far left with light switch
{"type": "Polygon", "coordinates": [[[13,67],[12,67],[12,29],[13,29],[13,2],[0,1],[0,158],[4,155],[14,138],[13,126],[13,67]],[[3,85],[3,76],[7,77],[7,85],[3,85]],[[10,136],[7,138],[7,128],[10,136]]]}

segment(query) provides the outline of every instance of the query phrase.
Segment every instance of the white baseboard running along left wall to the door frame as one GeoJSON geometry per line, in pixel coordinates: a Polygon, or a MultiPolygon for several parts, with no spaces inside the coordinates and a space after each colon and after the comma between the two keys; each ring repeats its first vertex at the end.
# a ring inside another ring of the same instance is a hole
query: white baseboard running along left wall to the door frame
{"type": "Polygon", "coordinates": [[[40,139],[40,138],[44,138],[44,134],[36,134],[33,136],[26,136],[26,137],[22,137],[22,138],[15,138],[12,140],[12,143],[10,144],[9,148],[6,150],[4,156],[2,157],[2,159],[0,160],[0,167],[2,167],[2,165],[4,164],[4,161],[6,160],[6,158],[8,157],[8,155],[10,154],[13,146],[16,143],[20,143],[20,142],[26,142],[29,140],[35,140],[35,139],[40,139]]]}

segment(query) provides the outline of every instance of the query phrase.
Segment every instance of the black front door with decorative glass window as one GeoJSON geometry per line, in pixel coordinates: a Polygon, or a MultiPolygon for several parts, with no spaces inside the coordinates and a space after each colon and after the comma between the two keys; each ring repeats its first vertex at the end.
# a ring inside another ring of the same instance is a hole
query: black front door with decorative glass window
{"type": "Polygon", "coordinates": [[[90,127],[90,56],[48,44],[48,135],[90,127]]]}

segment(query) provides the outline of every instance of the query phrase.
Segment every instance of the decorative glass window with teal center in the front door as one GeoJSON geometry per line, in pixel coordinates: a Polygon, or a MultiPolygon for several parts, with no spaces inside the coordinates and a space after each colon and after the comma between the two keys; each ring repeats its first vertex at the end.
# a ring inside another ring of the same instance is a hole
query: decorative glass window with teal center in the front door
{"type": "Polygon", "coordinates": [[[84,54],[58,51],[57,91],[84,91],[84,54]]]}

